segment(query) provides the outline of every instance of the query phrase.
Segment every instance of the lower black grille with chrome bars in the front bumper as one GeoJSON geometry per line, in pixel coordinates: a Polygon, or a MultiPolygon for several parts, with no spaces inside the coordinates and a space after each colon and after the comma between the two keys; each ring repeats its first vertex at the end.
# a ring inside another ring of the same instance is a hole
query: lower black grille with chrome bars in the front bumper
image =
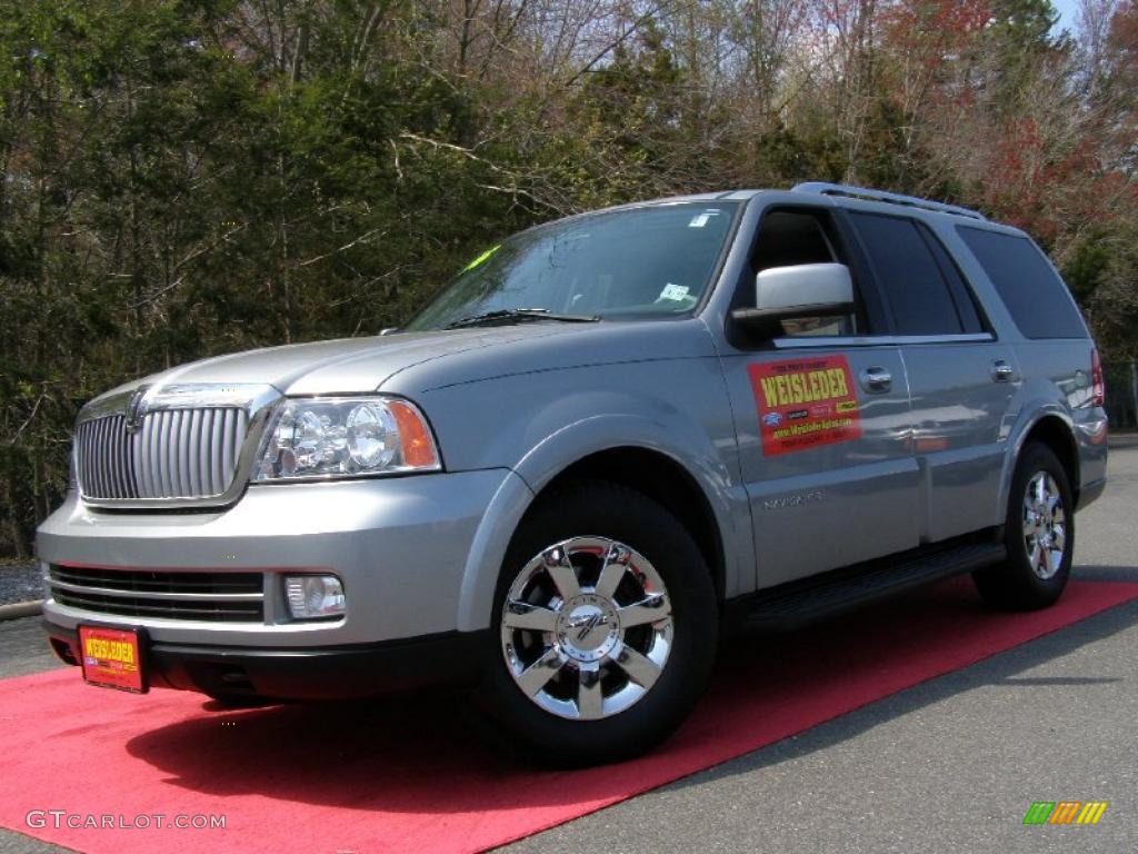
{"type": "Polygon", "coordinates": [[[263,623],[261,573],[185,573],[52,565],[51,598],[68,608],[124,617],[263,623]]]}

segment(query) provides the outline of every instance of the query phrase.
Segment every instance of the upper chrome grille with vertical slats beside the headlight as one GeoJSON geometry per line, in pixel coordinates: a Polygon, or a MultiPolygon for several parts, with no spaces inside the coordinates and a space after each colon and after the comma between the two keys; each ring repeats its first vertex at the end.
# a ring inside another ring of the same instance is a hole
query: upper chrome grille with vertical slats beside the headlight
{"type": "Polygon", "coordinates": [[[244,409],[215,407],[148,412],[133,434],[112,414],[83,421],[75,461],[85,498],[212,498],[233,483],[248,433],[244,409]]]}

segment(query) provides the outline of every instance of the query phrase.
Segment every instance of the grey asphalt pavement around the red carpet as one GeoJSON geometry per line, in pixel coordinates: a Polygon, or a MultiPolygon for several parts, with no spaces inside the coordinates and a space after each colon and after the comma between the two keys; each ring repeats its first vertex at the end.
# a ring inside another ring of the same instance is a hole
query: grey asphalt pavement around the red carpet
{"type": "MultiPolygon", "coordinates": [[[[1138,581],[1138,441],[1114,444],[1078,578],[1138,581]]],[[[0,623],[0,678],[53,666],[36,618],[0,623]]],[[[1131,602],[503,851],[1138,852],[1136,747],[1131,602]],[[1024,826],[1036,800],[1110,806],[1024,826]]],[[[0,830],[0,854],[61,851],[0,830]]]]}

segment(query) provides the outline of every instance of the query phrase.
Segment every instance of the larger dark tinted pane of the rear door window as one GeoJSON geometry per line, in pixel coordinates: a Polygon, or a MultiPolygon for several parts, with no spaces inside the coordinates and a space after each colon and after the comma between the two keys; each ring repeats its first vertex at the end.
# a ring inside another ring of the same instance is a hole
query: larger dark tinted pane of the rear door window
{"type": "Polygon", "coordinates": [[[889,299],[898,335],[959,335],[964,325],[929,244],[913,220],[850,215],[889,299]]]}

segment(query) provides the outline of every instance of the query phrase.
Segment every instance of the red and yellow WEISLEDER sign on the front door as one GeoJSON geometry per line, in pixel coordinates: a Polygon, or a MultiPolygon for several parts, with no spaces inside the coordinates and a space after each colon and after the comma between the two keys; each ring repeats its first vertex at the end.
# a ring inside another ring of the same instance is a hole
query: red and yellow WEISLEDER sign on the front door
{"type": "Polygon", "coordinates": [[[759,410],[762,453],[773,457],[851,442],[861,412],[846,356],[747,366],[759,410]]]}

